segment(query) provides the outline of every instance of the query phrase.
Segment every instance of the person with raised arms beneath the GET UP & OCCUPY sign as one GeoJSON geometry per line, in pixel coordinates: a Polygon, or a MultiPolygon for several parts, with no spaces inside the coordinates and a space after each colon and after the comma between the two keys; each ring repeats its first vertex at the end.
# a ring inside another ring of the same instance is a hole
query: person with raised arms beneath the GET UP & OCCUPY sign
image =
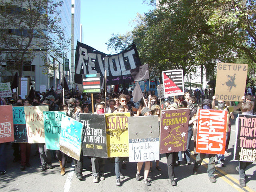
{"type": "MultiPolygon", "coordinates": [[[[234,112],[235,110],[238,110],[241,106],[242,106],[242,101],[245,100],[245,96],[241,97],[241,102],[238,103],[237,106],[225,106],[225,101],[223,100],[218,100],[218,106],[215,106],[215,100],[216,100],[216,96],[212,96],[212,109],[216,109],[216,110],[224,110],[224,111],[228,111],[228,117],[227,117],[227,129],[226,131],[228,132],[228,124],[229,124],[229,119],[230,119],[230,113],[234,112]]],[[[226,139],[228,137],[228,134],[226,134],[226,139]]],[[[220,164],[220,166],[225,166],[225,155],[224,154],[218,154],[217,155],[218,158],[218,164],[220,164]]]]}

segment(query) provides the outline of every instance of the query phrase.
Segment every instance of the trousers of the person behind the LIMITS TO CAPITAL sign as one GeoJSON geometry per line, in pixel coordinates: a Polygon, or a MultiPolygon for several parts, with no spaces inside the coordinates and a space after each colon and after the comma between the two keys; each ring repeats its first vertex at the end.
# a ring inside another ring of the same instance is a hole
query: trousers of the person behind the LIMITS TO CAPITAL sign
{"type": "MultiPolygon", "coordinates": [[[[195,168],[199,168],[201,166],[202,161],[204,160],[206,154],[205,153],[198,153],[196,156],[196,161],[195,161],[195,168]]],[[[208,177],[213,176],[213,173],[215,171],[215,154],[208,154],[209,157],[209,163],[208,163],[208,177]]]]}

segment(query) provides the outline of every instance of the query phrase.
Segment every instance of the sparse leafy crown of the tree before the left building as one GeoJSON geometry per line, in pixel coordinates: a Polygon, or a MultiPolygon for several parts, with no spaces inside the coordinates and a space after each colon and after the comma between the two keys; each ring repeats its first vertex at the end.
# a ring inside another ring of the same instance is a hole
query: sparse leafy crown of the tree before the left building
{"type": "Polygon", "coordinates": [[[0,1],[0,62],[11,61],[22,76],[24,62],[41,56],[44,72],[54,70],[48,54],[62,58],[69,43],[59,25],[59,6],[62,2],[52,0],[0,1]]]}

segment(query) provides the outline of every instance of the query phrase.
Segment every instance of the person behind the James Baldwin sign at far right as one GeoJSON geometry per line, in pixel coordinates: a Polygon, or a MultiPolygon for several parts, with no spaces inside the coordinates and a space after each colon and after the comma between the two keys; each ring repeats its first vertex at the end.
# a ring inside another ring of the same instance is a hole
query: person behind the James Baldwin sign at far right
{"type": "MultiPolygon", "coordinates": [[[[253,115],[252,109],[254,108],[254,106],[249,103],[249,102],[244,102],[244,104],[242,104],[241,106],[241,111],[242,111],[242,115],[253,115]]],[[[236,132],[238,132],[238,118],[236,118],[236,132]]],[[[239,134],[238,134],[239,135],[239,134]]],[[[236,138],[237,140],[238,138],[236,138]]],[[[234,148],[234,154],[235,154],[235,150],[236,147],[234,148]]],[[[246,187],[246,183],[245,183],[245,169],[247,168],[247,166],[249,166],[250,164],[252,164],[253,162],[247,162],[247,161],[238,161],[239,162],[239,166],[236,167],[236,170],[239,172],[239,184],[242,187],[246,187]]]]}

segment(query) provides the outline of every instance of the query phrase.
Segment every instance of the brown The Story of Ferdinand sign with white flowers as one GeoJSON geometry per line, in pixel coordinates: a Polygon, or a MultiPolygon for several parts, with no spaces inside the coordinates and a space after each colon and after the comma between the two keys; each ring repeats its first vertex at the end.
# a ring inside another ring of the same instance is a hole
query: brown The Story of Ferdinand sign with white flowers
{"type": "Polygon", "coordinates": [[[188,108],[161,111],[160,154],[187,149],[189,111],[188,108]]]}

